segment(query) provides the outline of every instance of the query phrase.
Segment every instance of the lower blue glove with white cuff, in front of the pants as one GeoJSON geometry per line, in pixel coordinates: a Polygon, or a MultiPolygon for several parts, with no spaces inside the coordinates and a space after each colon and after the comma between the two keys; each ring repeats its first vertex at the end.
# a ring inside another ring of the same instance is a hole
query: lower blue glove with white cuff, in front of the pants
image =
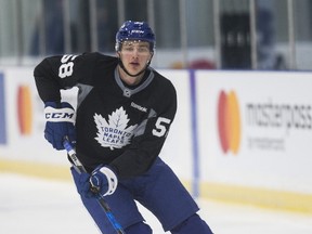
{"type": "Polygon", "coordinates": [[[78,180],[78,192],[86,198],[107,196],[114,194],[118,185],[116,173],[106,166],[98,167],[91,177],[88,173],[81,173],[78,180]]]}

